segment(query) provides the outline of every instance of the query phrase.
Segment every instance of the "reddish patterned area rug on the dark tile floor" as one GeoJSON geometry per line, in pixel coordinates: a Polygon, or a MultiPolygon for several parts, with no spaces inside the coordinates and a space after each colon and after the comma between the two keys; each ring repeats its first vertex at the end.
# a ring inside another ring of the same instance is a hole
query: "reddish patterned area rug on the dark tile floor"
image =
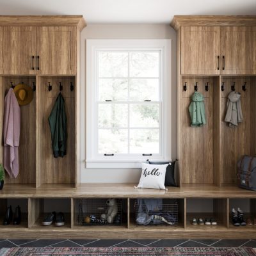
{"type": "Polygon", "coordinates": [[[25,247],[25,248],[2,248],[0,250],[1,256],[36,256],[36,255],[96,255],[96,256],[138,256],[138,255],[161,255],[161,256],[169,256],[169,255],[182,255],[182,256],[249,256],[256,255],[255,248],[227,248],[227,247],[191,247],[191,248],[152,248],[152,247],[94,247],[94,248],[84,248],[84,247],[60,247],[60,248],[52,248],[52,247],[25,247]]]}

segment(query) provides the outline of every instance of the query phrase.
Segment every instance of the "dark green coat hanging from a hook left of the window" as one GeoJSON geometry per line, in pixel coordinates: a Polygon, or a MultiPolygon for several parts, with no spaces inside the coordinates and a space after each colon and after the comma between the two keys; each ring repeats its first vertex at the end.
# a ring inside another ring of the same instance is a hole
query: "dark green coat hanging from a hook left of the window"
{"type": "Polygon", "coordinates": [[[67,154],[67,116],[65,102],[61,93],[56,99],[48,120],[51,129],[53,156],[63,157],[67,154]]]}

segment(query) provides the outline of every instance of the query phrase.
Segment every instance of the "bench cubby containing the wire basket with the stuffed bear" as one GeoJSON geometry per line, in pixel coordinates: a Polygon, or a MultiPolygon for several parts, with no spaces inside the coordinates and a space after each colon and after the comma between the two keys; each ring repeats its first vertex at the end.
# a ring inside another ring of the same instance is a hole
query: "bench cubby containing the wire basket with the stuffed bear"
{"type": "Polygon", "coordinates": [[[127,227],[127,199],[81,198],[74,200],[74,223],[76,227],[127,227]],[[116,203],[116,215],[111,223],[104,221],[102,214],[116,203]],[[111,204],[111,205],[110,205],[111,204]],[[108,206],[109,205],[109,206],[108,206]]]}

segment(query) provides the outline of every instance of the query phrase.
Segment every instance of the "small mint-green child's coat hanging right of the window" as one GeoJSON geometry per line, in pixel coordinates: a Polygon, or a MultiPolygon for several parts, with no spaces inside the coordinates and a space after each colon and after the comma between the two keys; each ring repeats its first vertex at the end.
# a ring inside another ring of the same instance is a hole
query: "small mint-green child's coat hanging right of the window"
{"type": "Polygon", "coordinates": [[[204,96],[199,92],[195,92],[193,93],[191,100],[191,104],[188,108],[191,119],[191,127],[200,127],[206,124],[204,96]]]}

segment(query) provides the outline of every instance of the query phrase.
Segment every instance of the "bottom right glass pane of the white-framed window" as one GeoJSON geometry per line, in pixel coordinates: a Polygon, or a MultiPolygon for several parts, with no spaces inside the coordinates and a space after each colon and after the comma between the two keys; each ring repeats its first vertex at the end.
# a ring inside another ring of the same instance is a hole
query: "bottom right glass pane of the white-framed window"
{"type": "Polygon", "coordinates": [[[131,129],[131,154],[159,154],[158,129],[131,129]]]}

